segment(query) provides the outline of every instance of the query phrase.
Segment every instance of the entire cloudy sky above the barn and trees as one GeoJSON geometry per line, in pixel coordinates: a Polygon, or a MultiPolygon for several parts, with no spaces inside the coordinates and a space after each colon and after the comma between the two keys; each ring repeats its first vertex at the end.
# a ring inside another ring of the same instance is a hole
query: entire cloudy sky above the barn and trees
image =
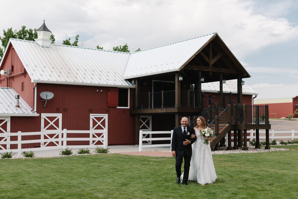
{"type": "Polygon", "coordinates": [[[0,2],[0,30],[38,28],[45,18],[56,44],[78,34],[83,47],[127,43],[133,52],[217,32],[252,75],[244,81],[258,98],[298,95],[296,0],[0,2]]]}

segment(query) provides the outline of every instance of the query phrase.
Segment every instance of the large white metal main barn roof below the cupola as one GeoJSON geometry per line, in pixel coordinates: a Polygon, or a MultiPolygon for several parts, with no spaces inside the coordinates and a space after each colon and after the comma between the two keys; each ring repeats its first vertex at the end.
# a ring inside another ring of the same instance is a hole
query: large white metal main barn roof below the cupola
{"type": "Polygon", "coordinates": [[[33,82],[134,87],[122,79],[129,53],[10,39],[33,82]]]}

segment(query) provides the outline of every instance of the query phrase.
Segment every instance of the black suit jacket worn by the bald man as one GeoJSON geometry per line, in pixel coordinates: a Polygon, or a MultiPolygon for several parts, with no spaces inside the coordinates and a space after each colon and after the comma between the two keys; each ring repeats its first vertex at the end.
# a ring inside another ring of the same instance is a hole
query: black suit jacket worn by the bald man
{"type": "Polygon", "coordinates": [[[187,132],[189,132],[189,135],[186,135],[184,138],[181,126],[174,128],[172,137],[172,151],[176,151],[176,155],[183,156],[184,152],[186,152],[187,156],[192,155],[191,145],[195,142],[196,138],[191,139],[190,137],[192,134],[195,134],[195,131],[193,127],[187,126],[187,132]],[[183,142],[185,139],[190,140],[190,144],[184,146],[183,142]]]}

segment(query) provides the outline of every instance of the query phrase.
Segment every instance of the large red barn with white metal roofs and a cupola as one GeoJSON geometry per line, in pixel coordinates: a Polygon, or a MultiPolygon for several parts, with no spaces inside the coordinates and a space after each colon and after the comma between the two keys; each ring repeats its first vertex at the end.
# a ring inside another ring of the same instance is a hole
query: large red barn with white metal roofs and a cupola
{"type": "MultiPolygon", "coordinates": [[[[0,87],[20,95],[14,109],[28,105],[29,117],[1,109],[9,132],[107,129],[109,145],[137,144],[140,129],[170,130],[210,101],[252,105],[256,95],[242,80],[250,75],[217,33],[135,53],[51,44],[45,24],[37,33],[35,41],[10,39],[0,63],[0,87]]],[[[2,103],[9,106],[11,98],[2,103]]]]}

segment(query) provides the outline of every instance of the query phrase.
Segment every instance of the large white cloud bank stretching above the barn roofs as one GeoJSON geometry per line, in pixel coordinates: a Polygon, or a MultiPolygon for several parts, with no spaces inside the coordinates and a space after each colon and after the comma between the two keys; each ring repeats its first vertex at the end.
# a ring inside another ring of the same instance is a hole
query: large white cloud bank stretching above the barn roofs
{"type": "Polygon", "coordinates": [[[4,1],[1,5],[8,9],[1,14],[10,18],[1,21],[0,30],[22,25],[38,28],[45,17],[58,44],[80,33],[85,47],[99,45],[109,50],[127,43],[131,51],[218,32],[240,59],[262,47],[297,38],[296,25],[272,16],[277,8],[289,12],[295,1],[272,4],[262,12],[256,4],[244,0],[4,1]]]}

